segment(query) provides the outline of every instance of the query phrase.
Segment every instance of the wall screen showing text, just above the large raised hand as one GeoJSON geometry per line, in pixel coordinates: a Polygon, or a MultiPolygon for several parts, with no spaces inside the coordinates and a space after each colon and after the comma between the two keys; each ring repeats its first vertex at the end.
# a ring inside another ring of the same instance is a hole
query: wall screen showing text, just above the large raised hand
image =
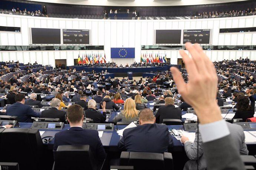
{"type": "Polygon", "coordinates": [[[207,30],[183,30],[183,44],[210,44],[210,29],[207,30]]]}

